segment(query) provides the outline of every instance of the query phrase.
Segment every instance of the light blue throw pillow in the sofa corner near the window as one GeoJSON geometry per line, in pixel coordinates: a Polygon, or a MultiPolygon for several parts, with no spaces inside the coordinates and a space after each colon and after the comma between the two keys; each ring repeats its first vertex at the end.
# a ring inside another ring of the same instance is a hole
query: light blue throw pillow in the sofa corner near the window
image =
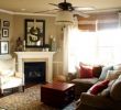
{"type": "Polygon", "coordinates": [[[106,79],[106,76],[107,76],[108,70],[113,70],[113,66],[102,67],[102,72],[101,72],[101,75],[99,77],[99,80],[106,79]]]}

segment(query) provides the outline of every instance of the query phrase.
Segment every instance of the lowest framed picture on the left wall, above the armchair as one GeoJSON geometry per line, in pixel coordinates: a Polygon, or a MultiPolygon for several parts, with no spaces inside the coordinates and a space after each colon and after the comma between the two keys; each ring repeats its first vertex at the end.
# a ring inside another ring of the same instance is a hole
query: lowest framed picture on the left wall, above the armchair
{"type": "Polygon", "coordinates": [[[9,54],[9,41],[0,41],[0,54],[9,54]]]}

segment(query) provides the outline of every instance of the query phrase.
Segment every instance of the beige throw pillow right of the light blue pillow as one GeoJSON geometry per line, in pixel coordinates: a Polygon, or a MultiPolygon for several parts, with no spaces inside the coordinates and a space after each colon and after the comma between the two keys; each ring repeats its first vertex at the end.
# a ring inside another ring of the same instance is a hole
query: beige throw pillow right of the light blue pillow
{"type": "Polygon", "coordinates": [[[121,75],[119,70],[108,70],[106,79],[114,80],[121,75]]]}

